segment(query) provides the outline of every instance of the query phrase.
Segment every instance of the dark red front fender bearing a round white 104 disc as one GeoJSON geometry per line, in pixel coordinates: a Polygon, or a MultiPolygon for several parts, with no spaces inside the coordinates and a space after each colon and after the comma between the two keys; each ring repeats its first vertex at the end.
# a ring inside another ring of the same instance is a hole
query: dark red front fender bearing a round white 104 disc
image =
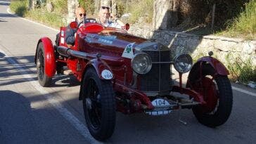
{"type": "Polygon", "coordinates": [[[108,66],[107,63],[105,63],[103,60],[99,59],[99,58],[94,58],[92,60],[90,60],[87,65],[85,65],[84,67],[84,72],[82,74],[82,80],[81,80],[81,84],[80,84],[80,92],[79,92],[79,100],[82,100],[82,83],[83,83],[83,79],[84,79],[84,74],[85,72],[87,72],[87,69],[89,67],[94,67],[94,70],[96,70],[98,77],[100,79],[103,80],[113,80],[115,79],[114,77],[114,73],[112,72],[112,70],[110,70],[110,67],[108,66]],[[105,71],[106,70],[106,71],[105,71]]]}

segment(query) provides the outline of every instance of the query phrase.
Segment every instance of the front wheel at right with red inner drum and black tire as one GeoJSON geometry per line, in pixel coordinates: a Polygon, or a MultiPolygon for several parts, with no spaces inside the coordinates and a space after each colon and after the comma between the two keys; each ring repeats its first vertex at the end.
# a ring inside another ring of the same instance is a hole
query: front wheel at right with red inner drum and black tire
{"type": "Polygon", "coordinates": [[[193,107],[198,122],[205,126],[215,127],[224,124],[232,110],[233,94],[231,84],[226,76],[215,74],[211,65],[203,65],[200,70],[189,76],[188,87],[203,95],[205,105],[193,107]]]}

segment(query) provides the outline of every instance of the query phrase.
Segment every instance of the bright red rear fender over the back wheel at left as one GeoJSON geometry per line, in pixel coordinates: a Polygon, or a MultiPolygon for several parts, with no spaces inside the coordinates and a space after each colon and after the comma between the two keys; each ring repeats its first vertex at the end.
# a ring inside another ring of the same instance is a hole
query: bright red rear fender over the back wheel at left
{"type": "MultiPolygon", "coordinates": [[[[39,43],[42,43],[44,46],[44,65],[46,65],[45,73],[48,77],[53,77],[53,75],[56,73],[56,59],[51,39],[48,37],[39,39],[37,48],[39,43]]],[[[34,63],[37,64],[37,50],[34,57],[34,63]]]]}

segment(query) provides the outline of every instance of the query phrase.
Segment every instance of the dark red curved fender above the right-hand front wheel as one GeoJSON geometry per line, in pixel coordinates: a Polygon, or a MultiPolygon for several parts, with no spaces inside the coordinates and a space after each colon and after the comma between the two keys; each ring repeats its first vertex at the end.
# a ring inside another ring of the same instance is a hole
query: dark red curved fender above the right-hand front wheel
{"type": "Polygon", "coordinates": [[[217,74],[220,75],[229,75],[229,70],[226,69],[226,67],[216,58],[212,58],[210,56],[205,56],[203,58],[198,59],[198,61],[193,65],[192,70],[195,70],[197,67],[200,67],[200,63],[206,62],[212,65],[212,67],[215,69],[217,74]]]}

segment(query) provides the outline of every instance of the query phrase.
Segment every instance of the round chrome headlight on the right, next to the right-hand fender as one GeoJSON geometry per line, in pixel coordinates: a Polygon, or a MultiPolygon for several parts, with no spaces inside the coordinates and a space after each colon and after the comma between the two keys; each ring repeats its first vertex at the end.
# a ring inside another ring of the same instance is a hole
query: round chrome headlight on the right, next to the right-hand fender
{"type": "Polygon", "coordinates": [[[176,55],[175,58],[174,58],[174,64],[173,65],[174,65],[175,70],[177,70],[177,72],[186,73],[186,72],[189,72],[191,70],[192,65],[193,65],[193,59],[191,58],[191,55],[188,55],[187,53],[176,55]],[[184,70],[181,70],[179,65],[178,65],[179,59],[181,59],[182,57],[185,57],[188,60],[188,63],[187,63],[188,67],[185,67],[184,70]]]}

